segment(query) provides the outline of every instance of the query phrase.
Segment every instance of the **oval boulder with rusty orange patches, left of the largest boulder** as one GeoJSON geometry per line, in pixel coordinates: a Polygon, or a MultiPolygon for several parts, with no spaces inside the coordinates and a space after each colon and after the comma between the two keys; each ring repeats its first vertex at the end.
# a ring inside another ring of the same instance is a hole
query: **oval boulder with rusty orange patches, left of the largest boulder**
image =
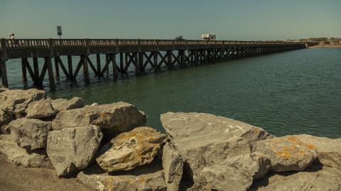
{"type": "Polygon", "coordinates": [[[153,161],[166,134],[151,127],[136,127],[114,137],[99,151],[97,163],[107,172],[131,170],[153,161]]]}

